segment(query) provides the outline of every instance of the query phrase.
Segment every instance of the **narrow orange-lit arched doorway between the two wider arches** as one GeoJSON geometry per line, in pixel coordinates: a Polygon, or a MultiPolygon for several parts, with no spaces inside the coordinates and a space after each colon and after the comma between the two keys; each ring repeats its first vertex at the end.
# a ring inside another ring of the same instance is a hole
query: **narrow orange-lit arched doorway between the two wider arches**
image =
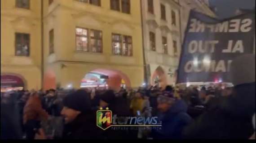
{"type": "Polygon", "coordinates": [[[44,73],[44,87],[43,90],[49,90],[49,89],[55,89],[56,88],[56,76],[54,71],[47,70],[44,73]]]}

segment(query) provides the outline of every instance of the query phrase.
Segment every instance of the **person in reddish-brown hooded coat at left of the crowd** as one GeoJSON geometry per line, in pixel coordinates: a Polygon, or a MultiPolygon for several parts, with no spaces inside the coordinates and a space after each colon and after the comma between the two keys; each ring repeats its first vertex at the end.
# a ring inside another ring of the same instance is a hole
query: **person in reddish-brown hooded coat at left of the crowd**
{"type": "Polygon", "coordinates": [[[47,120],[48,114],[42,108],[39,95],[31,93],[23,111],[23,124],[26,132],[26,139],[35,139],[35,136],[42,136],[41,122],[47,120]]]}

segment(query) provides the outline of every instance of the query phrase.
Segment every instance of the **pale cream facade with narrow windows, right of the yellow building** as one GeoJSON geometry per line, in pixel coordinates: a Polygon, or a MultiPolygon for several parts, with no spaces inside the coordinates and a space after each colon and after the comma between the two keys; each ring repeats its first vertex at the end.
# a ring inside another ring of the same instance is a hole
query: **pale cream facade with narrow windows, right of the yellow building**
{"type": "MultiPolygon", "coordinates": [[[[179,55],[181,52],[180,40],[180,6],[177,0],[153,0],[154,14],[148,12],[148,0],[142,0],[142,14],[143,14],[143,36],[144,36],[144,50],[146,57],[146,64],[150,65],[150,77],[148,82],[153,83],[152,76],[154,71],[160,66],[167,77],[166,84],[174,84],[174,79],[168,74],[175,71],[178,67],[179,55]],[[164,4],[166,8],[166,21],[161,19],[160,4],[164,4]],[[171,11],[176,13],[177,25],[172,25],[171,11]],[[150,50],[150,32],[155,33],[156,51],[150,50]],[[163,53],[162,36],[167,37],[168,54],[163,53]],[[177,41],[177,56],[174,55],[172,41],[177,41]]],[[[164,84],[162,84],[165,86],[164,84]]]]}

